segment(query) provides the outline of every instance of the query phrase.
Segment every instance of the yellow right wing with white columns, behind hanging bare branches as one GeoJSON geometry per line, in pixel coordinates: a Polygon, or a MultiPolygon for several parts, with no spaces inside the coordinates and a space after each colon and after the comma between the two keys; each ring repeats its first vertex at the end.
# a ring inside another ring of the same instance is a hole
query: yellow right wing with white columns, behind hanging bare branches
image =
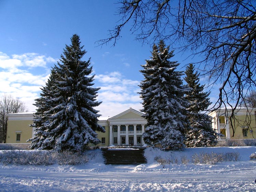
{"type": "Polygon", "coordinates": [[[231,109],[221,108],[208,114],[212,117],[212,128],[221,133],[218,139],[253,139],[256,138],[256,108],[239,108],[230,118],[231,109]],[[231,127],[231,123],[233,128],[231,127]],[[234,129],[234,136],[233,135],[234,129]]]}

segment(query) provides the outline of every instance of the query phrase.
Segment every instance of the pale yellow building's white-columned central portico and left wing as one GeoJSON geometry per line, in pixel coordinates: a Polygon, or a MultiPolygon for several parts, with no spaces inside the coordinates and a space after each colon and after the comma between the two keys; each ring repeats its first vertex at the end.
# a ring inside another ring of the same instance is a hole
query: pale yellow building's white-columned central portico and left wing
{"type": "MultiPolygon", "coordinates": [[[[98,132],[101,140],[99,146],[108,145],[144,145],[142,134],[144,133],[146,120],[143,113],[132,108],[98,123],[105,128],[105,133],[98,132]]],[[[6,143],[29,143],[26,142],[34,135],[34,130],[29,124],[33,122],[33,113],[7,114],[7,137],[6,143]]]]}

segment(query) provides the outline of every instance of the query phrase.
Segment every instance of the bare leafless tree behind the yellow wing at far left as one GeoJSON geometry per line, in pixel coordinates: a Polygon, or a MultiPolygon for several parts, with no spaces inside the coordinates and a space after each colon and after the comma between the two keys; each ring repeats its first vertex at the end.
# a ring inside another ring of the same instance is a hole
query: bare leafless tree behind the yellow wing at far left
{"type": "Polygon", "coordinates": [[[6,114],[27,112],[25,103],[19,98],[13,98],[12,95],[2,95],[0,98],[0,141],[6,140],[7,121],[6,114]]]}

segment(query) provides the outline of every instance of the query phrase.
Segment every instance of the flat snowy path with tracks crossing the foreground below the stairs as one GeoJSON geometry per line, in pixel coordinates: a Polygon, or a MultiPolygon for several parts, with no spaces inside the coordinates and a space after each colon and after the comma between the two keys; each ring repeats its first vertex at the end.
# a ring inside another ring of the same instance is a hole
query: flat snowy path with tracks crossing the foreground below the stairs
{"type": "MultiPolygon", "coordinates": [[[[116,169],[122,169],[117,166],[116,169]]],[[[140,166],[139,166],[140,167],[140,166]]],[[[124,166],[136,168],[135,166],[124,166]]],[[[255,166],[170,172],[45,172],[0,169],[0,192],[10,191],[227,191],[255,192],[255,166]]]]}

